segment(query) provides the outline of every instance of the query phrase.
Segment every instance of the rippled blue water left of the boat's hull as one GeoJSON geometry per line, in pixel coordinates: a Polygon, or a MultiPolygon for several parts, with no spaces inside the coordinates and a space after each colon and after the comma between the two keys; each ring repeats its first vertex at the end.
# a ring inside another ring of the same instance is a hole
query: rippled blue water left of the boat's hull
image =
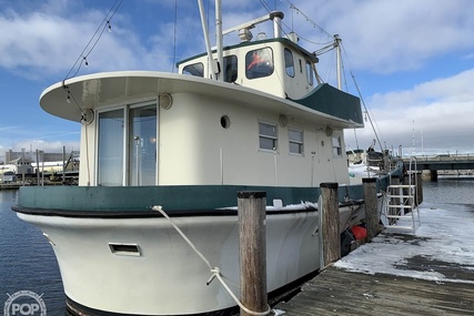
{"type": "Polygon", "coordinates": [[[17,194],[0,191],[0,310],[8,295],[31,290],[42,294],[49,316],[63,316],[65,296],[54,253],[41,231],[11,211],[17,194]]]}

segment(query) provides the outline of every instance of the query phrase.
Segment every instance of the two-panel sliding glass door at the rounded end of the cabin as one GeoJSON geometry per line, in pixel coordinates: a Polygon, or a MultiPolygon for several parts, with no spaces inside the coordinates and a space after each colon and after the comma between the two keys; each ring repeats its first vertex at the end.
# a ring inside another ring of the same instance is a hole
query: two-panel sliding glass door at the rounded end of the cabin
{"type": "Polygon", "coordinates": [[[157,104],[99,113],[98,185],[157,184],[157,104]]]}

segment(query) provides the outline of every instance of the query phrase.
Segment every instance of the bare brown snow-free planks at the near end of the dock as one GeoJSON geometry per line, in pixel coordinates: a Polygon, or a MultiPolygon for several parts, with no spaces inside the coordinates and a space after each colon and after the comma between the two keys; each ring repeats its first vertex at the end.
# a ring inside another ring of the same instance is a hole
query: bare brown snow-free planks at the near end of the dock
{"type": "Polygon", "coordinates": [[[276,308],[285,315],[474,315],[474,284],[329,267],[276,308]]]}

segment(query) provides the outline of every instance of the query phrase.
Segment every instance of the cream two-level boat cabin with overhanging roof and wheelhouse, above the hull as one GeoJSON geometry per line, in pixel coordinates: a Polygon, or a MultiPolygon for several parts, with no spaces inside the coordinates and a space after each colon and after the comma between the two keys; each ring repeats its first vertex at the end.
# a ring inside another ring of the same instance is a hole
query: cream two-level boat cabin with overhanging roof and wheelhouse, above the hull
{"type": "Polygon", "coordinates": [[[179,73],[105,72],[48,88],[41,106],[82,123],[79,185],[349,183],[343,130],[363,126],[359,99],[316,84],[317,58],[294,35],[250,41],[254,23],[233,28],[241,43],[184,60],[179,73]]]}

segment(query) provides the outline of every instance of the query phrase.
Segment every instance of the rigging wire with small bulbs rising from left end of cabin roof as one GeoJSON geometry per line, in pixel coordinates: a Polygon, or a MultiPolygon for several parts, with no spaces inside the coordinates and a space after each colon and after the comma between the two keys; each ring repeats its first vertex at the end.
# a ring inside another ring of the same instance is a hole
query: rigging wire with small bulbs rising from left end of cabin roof
{"type": "Polygon", "coordinates": [[[95,32],[93,33],[93,35],[89,40],[88,44],[84,47],[84,49],[82,50],[82,52],[80,53],[80,55],[75,60],[74,64],[71,67],[71,69],[69,70],[68,74],[64,77],[64,79],[62,81],[63,84],[64,84],[65,80],[68,80],[70,78],[73,78],[73,77],[75,77],[79,73],[79,71],[80,71],[80,69],[82,67],[82,63],[84,63],[85,65],[89,64],[87,58],[89,57],[89,54],[93,51],[93,49],[98,44],[98,42],[101,39],[103,32],[107,29],[109,31],[111,30],[110,21],[115,16],[115,13],[119,10],[119,8],[122,4],[122,2],[123,2],[123,0],[115,0],[115,2],[113,3],[113,6],[110,8],[109,12],[107,12],[105,17],[103,18],[102,22],[97,28],[95,32]],[[72,71],[74,69],[75,69],[75,72],[71,75],[71,73],[72,73],[72,71]]]}

